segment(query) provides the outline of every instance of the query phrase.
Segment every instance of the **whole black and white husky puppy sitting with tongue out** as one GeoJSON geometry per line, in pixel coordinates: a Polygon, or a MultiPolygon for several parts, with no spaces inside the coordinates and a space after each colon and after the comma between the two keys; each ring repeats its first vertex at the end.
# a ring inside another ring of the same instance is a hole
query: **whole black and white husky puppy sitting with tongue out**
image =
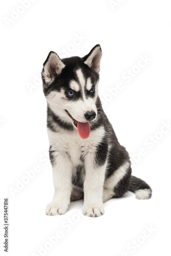
{"type": "Polygon", "coordinates": [[[103,203],[130,190],[149,199],[152,189],[132,176],[130,157],[103,112],[98,96],[100,45],[84,57],[50,52],[42,69],[55,193],[47,215],[67,212],[83,198],[83,215],[104,214],[103,203]]]}

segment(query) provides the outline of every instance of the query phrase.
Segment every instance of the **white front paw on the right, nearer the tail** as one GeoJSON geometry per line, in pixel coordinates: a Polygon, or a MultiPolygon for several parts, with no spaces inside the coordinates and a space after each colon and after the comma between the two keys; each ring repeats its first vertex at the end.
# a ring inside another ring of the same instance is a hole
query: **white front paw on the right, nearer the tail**
{"type": "Polygon", "coordinates": [[[82,209],[82,213],[83,215],[88,217],[100,217],[101,215],[104,214],[104,208],[103,208],[103,205],[96,205],[96,204],[84,205],[82,209]]]}

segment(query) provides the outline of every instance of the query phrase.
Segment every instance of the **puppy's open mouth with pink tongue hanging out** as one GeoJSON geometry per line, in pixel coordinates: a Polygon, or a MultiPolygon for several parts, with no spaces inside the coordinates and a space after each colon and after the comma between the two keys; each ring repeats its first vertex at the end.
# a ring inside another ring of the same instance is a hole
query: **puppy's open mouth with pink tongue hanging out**
{"type": "Polygon", "coordinates": [[[67,110],[65,110],[65,111],[69,115],[69,117],[73,120],[74,125],[77,127],[79,136],[82,139],[87,139],[90,135],[90,124],[89,124],[89,122],[85,122],[85,123],[78,122],[77,120],[75,120],[72,117],[72,115],[67,110]]]}

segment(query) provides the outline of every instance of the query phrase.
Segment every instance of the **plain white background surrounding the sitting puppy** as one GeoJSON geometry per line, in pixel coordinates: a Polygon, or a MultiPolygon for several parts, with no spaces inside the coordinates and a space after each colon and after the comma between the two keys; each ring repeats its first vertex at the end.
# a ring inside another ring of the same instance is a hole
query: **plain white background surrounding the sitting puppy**
{"type": "Polygon", "coordinates": [[[32,2],[27,8],[17,0],[1,3],[2,252],[3,200],[9,197],[10,256],[168,255],[171,128],[163,129],[163,122],[171,123],[170,1],[117,0],[113,8],[109,0],[32,2]],[[79,214],[83,202],[78,201],[66,215],[48,217],[53,183],[46,100],[38,77],[50,51],[62,57],[67,49],[68,56],[82,57],[96,44],[103,53],[99,95],[104,111],[119,142],[137,157],[133,174],[151,185],[153,198],[139,201],[127,193],[105,203],[104,216],[94,219],[79,214]],[[138,69],[140,56],[150,60],[138,69]],[[124,78],[128,70],[137,72],[131,80],[124,78]],[[118,82],[122,89],[109,95],[118,82]],[[32,179],[26,178],[29,170],[32,179]],[[23,179],[28,183],[11,193],[23,179]],[[149,228],[151,233],[145,231],[149,228]],[[48,237],[57,232],[61,236],[52,245],[48,237]]]}

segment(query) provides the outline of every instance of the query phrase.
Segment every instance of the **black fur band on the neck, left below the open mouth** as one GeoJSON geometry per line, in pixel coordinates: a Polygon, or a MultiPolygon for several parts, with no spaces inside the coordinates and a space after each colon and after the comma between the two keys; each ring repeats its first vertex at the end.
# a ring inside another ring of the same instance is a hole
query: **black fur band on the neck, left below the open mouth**
{"type": "MultiPolygon", "coordinates": [[[[48,106],[48,109],[47,109],[47,117],[51,117],[51,119],[53,120],[53,122],[55,122],[57,125],[59,125],[60,127],[62,127],[63,129],[66,129],[68,131],[73,131],[74,130],[74,127],[72,124],[70,123],[67,123],[65,121],[62,121],[58,116],[56,116],[53,111],[49,108],[48,106]]],[[[54,124],[52,123],[52,121],[50,121],[50,118],[47,119],[47,126],[52,130],[54,131],[55,128],[54,128],[54,124]]],[[[56,130],[55,130],[56,131],[56,130]]]]}

